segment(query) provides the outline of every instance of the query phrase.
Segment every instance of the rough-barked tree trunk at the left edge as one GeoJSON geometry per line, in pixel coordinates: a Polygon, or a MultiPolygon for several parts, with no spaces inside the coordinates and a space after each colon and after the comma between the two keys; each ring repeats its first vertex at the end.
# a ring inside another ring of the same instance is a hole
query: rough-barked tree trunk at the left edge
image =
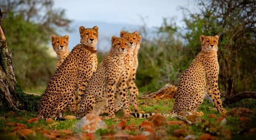
{"type": "Polygon", "coordinates": [[[19,96],[15,94],[15,76],[12,68],[11,54],[8,52],[4,30],[1,25],[0,9],[0,107],[22,108],[19,96]]]}

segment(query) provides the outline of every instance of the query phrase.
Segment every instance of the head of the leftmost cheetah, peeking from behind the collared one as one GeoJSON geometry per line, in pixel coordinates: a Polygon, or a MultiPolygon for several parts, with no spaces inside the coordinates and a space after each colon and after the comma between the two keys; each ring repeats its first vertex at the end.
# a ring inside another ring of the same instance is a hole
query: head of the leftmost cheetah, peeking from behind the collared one
{"type": "Polygon", "coordinates": [[[51,36],[52,47],[56,53],[65,52],[68,50],[68,39],[69,36],[51,36]]]}

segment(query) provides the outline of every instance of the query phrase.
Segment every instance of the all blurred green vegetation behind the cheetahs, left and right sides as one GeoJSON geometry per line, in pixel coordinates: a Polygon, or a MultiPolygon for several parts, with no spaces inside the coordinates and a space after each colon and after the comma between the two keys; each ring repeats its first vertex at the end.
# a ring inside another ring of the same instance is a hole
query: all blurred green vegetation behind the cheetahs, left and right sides
{"type": "MultiPolygon", "coordinates": [[[[140,28],[143,41],[136,74],[139,91],[153,92],[166,83],[177,85],[201,50],[200,35],[219,35],[221,92],[226,92],[230,75],[234,77],[235,93],[256,91],[256,1],[195,2],[199,12],[181,7],[184,27],[178,27],[172,18],[163,19],[154,38],[147,37],[146,25],[140,28]]],[[[56,63],[49,53],[49,36],[59,29],[68,30],[71,21],[65,18],[63,9],[53,8],[52,0],[6,0],[0,1],[0,7],[16,80],[26,91],[42,93],[56,63]]],[[[106,54],[97,55],[101,62],[106,54]]]]}

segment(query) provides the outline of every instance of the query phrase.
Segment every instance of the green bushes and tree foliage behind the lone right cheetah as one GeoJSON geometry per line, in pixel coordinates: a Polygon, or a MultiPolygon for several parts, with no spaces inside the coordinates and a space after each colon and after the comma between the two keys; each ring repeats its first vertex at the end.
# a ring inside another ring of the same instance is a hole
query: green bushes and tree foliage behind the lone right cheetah
{"type": "MultiPolygon", "coordinates": [[[[136,84],[155,91],[165,83],[178,84],[181,73],[201,51],[200,35],[219,35],[219,88],[225,93],[234,77],[234,92],[256,90],[256,2],[253,0],[198,0],[199,12],[182,7],[185,27],[164,19],[154,39],[143,38],[136,84]]],[[[144,25],[145,27],[145,25],[144,25]]],[[[146,29],[142,28],[142,36],[146,29]]]]}

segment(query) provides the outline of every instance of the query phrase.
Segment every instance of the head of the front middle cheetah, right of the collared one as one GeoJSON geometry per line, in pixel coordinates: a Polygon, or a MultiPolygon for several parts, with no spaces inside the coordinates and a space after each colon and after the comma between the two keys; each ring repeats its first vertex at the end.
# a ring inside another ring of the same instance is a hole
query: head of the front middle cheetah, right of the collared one
{"type": "Polygon", "coordinates": [[[128,48],[128,40],[123,37],[116,37],[112,36],[111,38],[112,47],[115,52],[117,53],[125,53],[127,52],[128,48]]]}

